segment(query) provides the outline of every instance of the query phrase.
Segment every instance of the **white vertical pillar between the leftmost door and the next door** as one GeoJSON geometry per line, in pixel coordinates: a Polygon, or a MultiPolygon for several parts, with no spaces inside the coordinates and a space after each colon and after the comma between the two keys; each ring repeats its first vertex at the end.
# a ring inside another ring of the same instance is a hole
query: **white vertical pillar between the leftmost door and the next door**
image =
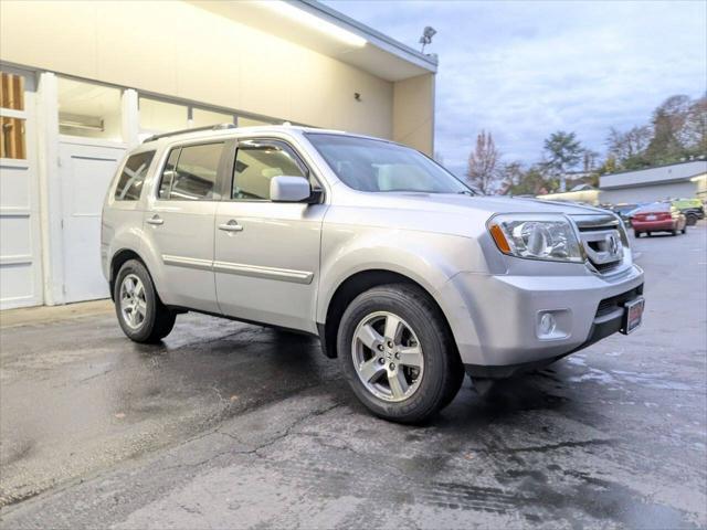
{"type": "Polygon", "coordinates": [[[40,74],[36,92],[42,285],[44,303],[53,306],[64,303],[62,189],[59,180],[59,89],[56,76],[51,72],[40,74]]]}

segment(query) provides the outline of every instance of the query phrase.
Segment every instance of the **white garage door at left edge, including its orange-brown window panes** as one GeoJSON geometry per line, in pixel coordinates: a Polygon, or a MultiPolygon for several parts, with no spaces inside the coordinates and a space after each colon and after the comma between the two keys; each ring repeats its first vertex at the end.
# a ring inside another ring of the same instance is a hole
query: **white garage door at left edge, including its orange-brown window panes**
{"type": "Polygon", "coordinates": [[[0,309],[42,304],[34,78],[0,72],[0,309]]]}

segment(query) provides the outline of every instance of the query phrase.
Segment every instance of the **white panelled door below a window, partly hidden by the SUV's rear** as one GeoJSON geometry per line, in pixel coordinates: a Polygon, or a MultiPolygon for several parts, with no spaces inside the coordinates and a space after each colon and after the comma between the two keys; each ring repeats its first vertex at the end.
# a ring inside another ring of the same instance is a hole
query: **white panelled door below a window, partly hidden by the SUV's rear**
{"type": "Polygon", "coordinates": [[[108,297],[101,272],[101,210],[125,146],[61,137],[64,301],[108,297]]]}

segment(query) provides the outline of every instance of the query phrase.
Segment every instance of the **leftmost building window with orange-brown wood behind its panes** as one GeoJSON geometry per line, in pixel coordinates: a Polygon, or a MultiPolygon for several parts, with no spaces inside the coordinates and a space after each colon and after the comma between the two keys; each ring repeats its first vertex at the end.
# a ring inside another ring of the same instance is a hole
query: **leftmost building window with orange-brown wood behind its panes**
{"type": "Polygon", "coordinates": [[[0,72],[0,158],[25,159],[24,77],[0,72]]]}

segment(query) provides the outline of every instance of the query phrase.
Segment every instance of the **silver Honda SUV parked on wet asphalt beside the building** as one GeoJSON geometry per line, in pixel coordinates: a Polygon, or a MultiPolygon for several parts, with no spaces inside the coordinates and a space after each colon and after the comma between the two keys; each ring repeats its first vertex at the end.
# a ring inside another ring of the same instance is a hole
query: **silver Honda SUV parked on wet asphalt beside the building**
{"type": "Polygon", "coordinates": [[[374,414],[420,422],[472,378],[542,367],[641,322],[621,220],[475,195],[424,155],[300,127],[155,136],[103,210],[125,333],[187,310],[318,336],[374,414]]]}

